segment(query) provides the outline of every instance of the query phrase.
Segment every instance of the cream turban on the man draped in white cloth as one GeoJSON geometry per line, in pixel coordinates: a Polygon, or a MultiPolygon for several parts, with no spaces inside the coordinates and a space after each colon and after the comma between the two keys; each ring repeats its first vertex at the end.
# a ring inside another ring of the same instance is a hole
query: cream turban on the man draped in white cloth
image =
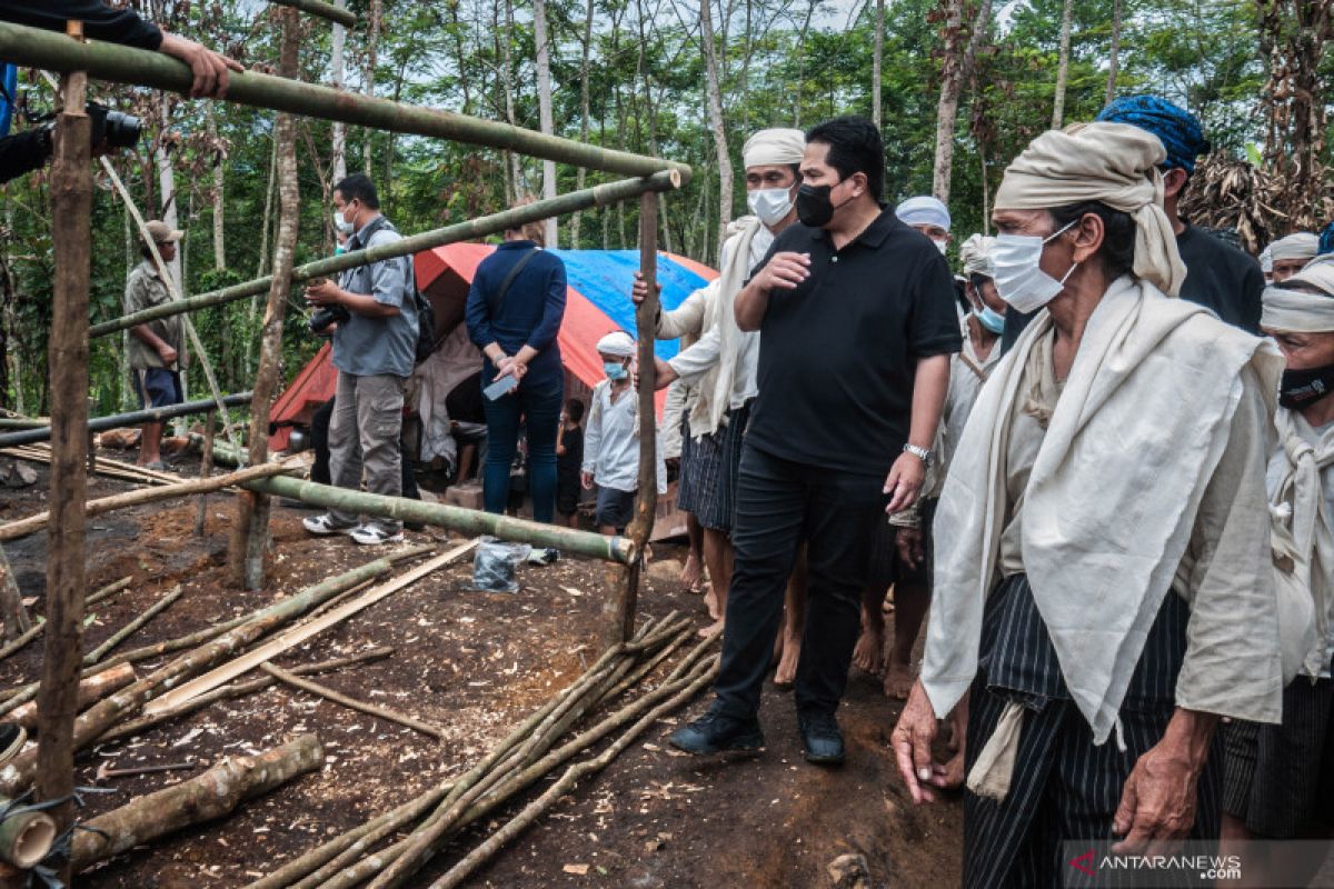
{"type": "Polygon", "coordinates": [[[1163,212],[1162,141],[1130,124],[1071,124],[1034,139],[1005,172],[995,209],[1051,211],[1101,201],[1135,221],[1135,277],[1177,296],[1186,265],[1163,212]]]}

